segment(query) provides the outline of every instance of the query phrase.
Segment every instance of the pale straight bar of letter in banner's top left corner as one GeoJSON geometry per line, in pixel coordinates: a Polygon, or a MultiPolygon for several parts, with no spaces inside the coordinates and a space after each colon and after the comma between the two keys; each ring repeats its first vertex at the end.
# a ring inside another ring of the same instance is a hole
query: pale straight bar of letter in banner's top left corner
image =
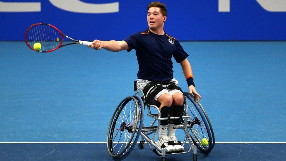
{"type": "Polygon", "coordinates": [[[1,2],[0,12],[40,12],[40,2],[1,2]]]}

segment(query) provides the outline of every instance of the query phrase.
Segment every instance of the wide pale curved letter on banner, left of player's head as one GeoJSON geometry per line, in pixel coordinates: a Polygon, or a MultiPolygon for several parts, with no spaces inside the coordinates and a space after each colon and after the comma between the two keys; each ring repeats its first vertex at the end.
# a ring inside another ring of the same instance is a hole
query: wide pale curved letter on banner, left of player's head
{"type": "Polygon", "coordinates": [[[114,13],[119,12],[119,2],[93,4],[80,0],[49,0],[59,9],[76,13],[114,13]]]}

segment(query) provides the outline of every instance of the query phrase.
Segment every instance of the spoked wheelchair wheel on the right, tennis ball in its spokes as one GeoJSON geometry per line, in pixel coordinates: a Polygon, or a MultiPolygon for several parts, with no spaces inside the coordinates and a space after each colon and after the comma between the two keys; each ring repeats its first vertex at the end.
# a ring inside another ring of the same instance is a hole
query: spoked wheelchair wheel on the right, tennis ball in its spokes
{"type": "Polygon", "coordinates": [[[184,92],[184,96],[187,97],[188,114],[191,116],[191,118],[188,118],[190,136],[197,148],[201,152],[208,154],[214,148],[214,132],[210,120],[202,105],[196,101],[192,94],[184,92]],[[207,143],[204,143],[203,139],[206,139],[207,143]]]}

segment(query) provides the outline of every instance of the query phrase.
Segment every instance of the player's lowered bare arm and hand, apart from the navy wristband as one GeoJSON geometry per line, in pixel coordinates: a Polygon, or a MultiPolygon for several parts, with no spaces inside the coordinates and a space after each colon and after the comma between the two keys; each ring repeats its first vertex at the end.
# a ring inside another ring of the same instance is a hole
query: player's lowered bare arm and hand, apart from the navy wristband
{"type": "MultiPolygon", "coordinates": [[[[188,79],[189,77],[193,77],[193,71],[192,71],[192,67],[188,61],[187,58],[185,58],[185,60],[183,60],[182,62],[180,62],[183,73],[185,75],[185,78],[188,79]]],[[[189,91],[190,93],[193,93],[194,96],[197,98],[197,100],[199,101],[199,98],[202,99],[202,97],[200,96],[200,94],[198,94],[198,92],[195,89],[194,85],[190,85],[189,86],[189,91]]]]}

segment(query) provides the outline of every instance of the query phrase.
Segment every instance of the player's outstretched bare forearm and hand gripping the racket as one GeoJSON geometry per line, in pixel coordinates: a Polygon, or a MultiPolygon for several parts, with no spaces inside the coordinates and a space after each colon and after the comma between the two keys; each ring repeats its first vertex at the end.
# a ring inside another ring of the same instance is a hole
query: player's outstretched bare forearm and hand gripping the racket
{"type": "Polygon", "coordinates": [[[108,51],[121,51],[121,50],[128,50],[128,45],[127,43],[123,41],[115,41],[115,40],[110,40],[110,41],[100,41],[100,40],[94,40],[92,42],[92,45],[87,45],[87,47],[94,48],[95,50],[100,50],[101,48],[106,49],[108,51]]]}

